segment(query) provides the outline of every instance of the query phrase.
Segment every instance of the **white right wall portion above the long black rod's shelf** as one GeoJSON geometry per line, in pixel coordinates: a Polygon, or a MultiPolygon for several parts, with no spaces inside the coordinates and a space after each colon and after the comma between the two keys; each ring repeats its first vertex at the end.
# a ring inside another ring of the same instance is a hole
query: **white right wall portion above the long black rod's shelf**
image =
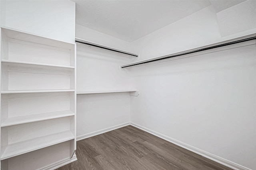
{"type": "MultiPolygon", "coordinates": [[[[232,26],[229,25],[229,27],[232,26]]],[[[140,61],[253,33],[256,33],[256,28],[221,37],[216,12],[212,6],[208,6],[190,16],[133,41],[132,48],[135,53],[139,54],[138,60],[140,61]]]]}

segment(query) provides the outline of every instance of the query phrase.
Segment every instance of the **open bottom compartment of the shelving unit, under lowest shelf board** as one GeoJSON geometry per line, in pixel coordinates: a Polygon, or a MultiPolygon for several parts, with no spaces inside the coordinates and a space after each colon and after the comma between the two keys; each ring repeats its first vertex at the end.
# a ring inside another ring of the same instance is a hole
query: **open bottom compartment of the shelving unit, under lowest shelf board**
{"type": "Polygon", "coordinates": [[[76,155],[70,158],[70,152],[74,152],[74,148],[70,148],[73,141],[66,141],[2,160],[1,170],[54,170],[59,168],[77,160],[76,155]]]}

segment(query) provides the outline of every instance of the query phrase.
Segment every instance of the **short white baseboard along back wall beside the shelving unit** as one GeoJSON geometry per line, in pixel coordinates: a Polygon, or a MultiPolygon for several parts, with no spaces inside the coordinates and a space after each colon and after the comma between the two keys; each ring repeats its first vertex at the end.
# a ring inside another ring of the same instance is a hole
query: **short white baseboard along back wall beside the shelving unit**
{"type": "Polygon", "coordinates": [[[130,125],[130,122],[126,122],[126,123],[122,123],[120,125],[108,127],[106,129],[102,129],[102,130],[99,130],[99,131],[94,131],[94,132],[91,132],[91,133],[87,133],[85,135],[81,135],[81,136],[76,137],[76,141],[80,141],[80,140],[86,139],[88,137],[93,137],[93,136],[96,136],[96,135],[100,135],[102,133],[113,131],[115,129],[118,129],[118,128],[121,128],[121,127],[125,127],[125,126],[128,126],[128,125],[130,125]]]}

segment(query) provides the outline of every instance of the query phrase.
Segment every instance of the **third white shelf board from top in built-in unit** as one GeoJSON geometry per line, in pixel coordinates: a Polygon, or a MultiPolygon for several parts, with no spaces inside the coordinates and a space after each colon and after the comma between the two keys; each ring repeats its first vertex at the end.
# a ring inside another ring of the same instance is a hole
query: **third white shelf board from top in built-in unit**
{"type": "Polygon", "coordinates": [[[54,111],[49,113],[40,113],[34,115],[24,115],[24,116],[17,116],[17,117],[8,117],[2,124],[1,127],[12,126],[12,125],[19,125],[23,123],[30,123],[35,121],[43,121],[48,119],[56,119],[60,117],[68,117],[75,115],[74,112],[71,110],[64,110],[64,111],[54,111]]]}

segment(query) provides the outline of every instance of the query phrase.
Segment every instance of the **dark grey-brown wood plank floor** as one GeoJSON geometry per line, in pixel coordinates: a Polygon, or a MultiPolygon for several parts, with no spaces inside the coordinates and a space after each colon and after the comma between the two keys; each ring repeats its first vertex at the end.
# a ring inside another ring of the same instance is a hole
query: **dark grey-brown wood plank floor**
{"type": "Polygon", "coordinates": [[[232,170],[133,126],[77,141],[76,156],[57,170],[232,170]]]}

